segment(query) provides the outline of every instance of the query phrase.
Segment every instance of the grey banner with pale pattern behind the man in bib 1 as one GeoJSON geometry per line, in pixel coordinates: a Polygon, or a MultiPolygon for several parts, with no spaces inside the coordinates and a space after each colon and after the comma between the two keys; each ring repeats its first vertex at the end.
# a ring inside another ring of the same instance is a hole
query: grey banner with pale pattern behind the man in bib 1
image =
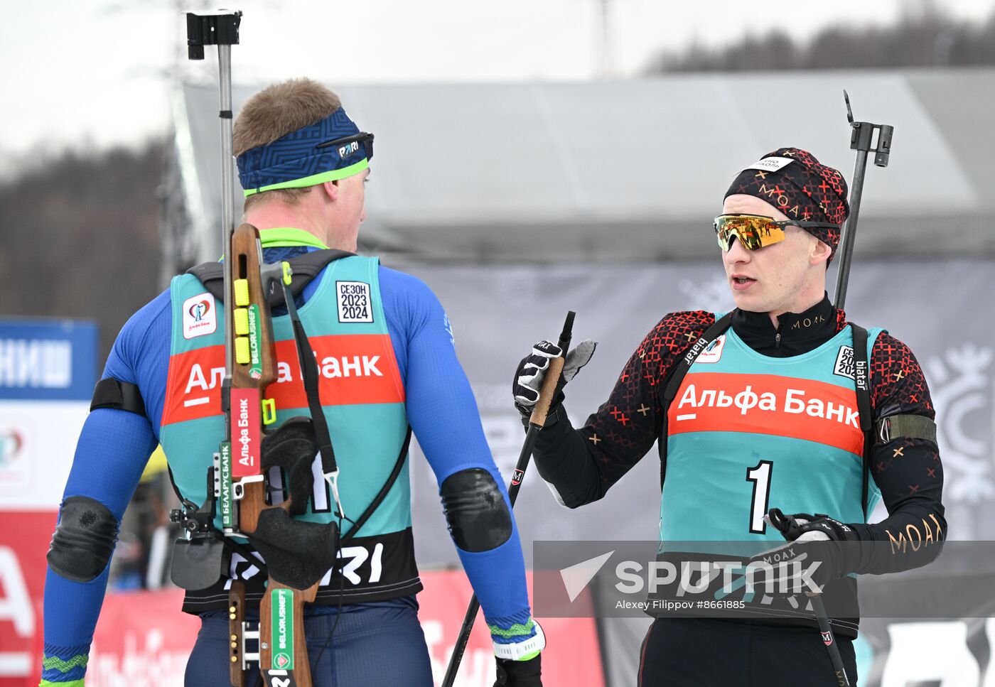
{"type": "MultiPolygon", "coordinates": [[[[446,308],[505,479],[524,438],[511,378],[533,343],[556,338],[567,310],[577,313],[574,344],[598,342],[591,361],[564,389],[564,408],[572,425],[581,427],[608,400],[626,361],[664,315],[733,307],[717,250],[707,262],[403,268],[424,279],[446,308]]],[[[990,259],[861,260],[847,296],[848,318],[888,329],[912,350],[925,374],[936,410],[950,539],[995,539],[995,319],[979,301],[993,271],[990,259]]],[[[422,456],[413,456],[411,474],[419,561],[456,563],[449,538],[439,536],[446,529],[439,487],[422,456]]],[[[533,465],[514,509],[526,563],[531,540],[653,540],[660,496],[656,446],[604,498],[575,509],[556,502],[533,465]]],[[[872,521],[885,515],[880,506],[872,521]]]]}

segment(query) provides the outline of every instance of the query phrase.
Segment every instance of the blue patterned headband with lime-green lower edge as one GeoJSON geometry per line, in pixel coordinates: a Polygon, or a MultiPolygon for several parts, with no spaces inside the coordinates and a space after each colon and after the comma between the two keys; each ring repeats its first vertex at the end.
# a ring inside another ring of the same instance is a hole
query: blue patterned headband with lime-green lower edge
{"type": "Polygon", "coordinates": [[[246,196],[299,189],[344,179],[369,167],[373,134],[364,133],[339,107],[320,121],[238,156],[246,196]]]}

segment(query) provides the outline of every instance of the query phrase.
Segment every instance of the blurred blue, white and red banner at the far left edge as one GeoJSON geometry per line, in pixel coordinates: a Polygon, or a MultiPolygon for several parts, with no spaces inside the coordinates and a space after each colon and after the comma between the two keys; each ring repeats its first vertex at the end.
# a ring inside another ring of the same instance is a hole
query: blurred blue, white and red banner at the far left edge
{"type": "Polygon", "coordinates": [[[93,322],[0,319],[0,687],[41,660],[45,553],[96,382],[93,322]]]}

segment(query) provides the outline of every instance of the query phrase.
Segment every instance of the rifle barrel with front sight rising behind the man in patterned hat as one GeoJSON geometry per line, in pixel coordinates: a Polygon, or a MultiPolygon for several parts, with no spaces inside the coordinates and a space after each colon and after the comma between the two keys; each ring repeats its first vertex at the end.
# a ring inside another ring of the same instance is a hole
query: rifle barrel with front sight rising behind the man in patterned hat
{"type": "Polygon", "coordinates": [[[864,176],[868,168],[868,153],[874,150],[874,163],[878,167],[888,167],[892,152],[892,134],[895,127],[889,124],[873,124],[870,121],[854,121],[854,111],[850,107],[850,95],[846,89],[843,98],[847,102],[847,120],[850,122],[850,149],[857,151],[854,179],[850,189],[850,217],[843,226],[840,237],[840,266],[836,271],[836,297],[833,304],[842,310],[847,299],[847,282],[850,281],[850,263],[853,261],[854,242],[857,237],[857,220],[861,214],[861,197],[864,194],[864,176]],[[878,141],[872,145],[875,130],[880,130],[878,141]]]}

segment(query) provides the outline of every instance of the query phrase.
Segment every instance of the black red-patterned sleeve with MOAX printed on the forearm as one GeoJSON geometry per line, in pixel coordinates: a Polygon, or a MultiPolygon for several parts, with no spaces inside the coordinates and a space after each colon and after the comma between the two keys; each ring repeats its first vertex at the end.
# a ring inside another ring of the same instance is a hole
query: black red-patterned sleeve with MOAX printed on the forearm
{"type": "MultiPolygon", "coordinates": [[[[915,356],[889,334],[879,336],[872,350],[871,385],[876,423],[896,415],[935,418],[929,388],[915,356]]],[[[888,518],[853,527],[863,541],[889,546],[864,547],[857,572],[891,573],[931,563],[940,553],[947,529],[943,465],[936,443],[908,436],[876,443],[871,475],[881,489],[888,518]]]]}

